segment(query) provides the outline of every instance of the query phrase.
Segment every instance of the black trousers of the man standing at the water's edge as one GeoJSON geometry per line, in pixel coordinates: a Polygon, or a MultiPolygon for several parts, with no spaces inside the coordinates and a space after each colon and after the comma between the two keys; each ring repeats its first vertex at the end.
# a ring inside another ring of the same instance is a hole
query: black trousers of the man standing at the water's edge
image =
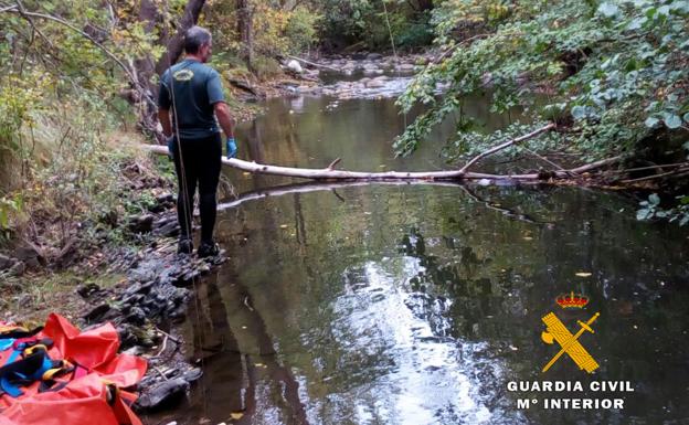
{"type": "Polygon", "coordinates": [[[181,236],[191,237],[193,199],[198,185],[201,242],[212,243],[218,211],[215,193],[222,167],[220,132],[199,139],[182,138],[179,144],[172,142],[171,150],[179,187],[177,217],[181,227],[181,236]]]}

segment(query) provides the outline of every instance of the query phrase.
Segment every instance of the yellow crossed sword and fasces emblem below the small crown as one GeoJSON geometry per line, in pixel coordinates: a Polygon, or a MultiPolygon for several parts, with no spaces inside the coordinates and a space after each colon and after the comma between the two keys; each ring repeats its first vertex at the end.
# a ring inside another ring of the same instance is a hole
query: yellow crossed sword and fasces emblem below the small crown
{"type": "Polygon", "coordinates": [[[543,366],[543,372],[547,372],[564,353],[566,353],[574,361],[574,363],[576,363],[579,369],[584,369],[589,373],[593,373],[593,371],[598,369],[598,363],[593,360],[591,354],[589,354],[589,351],[586,351],[586,349],[579,342],[579,337],[581,337],[585,331],[595,333],[591,328],[591,325],[598,318],[598,316],[601,316],[601,314],[596,312],[586,322],[579,320],[577,323],[581,328],[575,334],[572,334],[568,330],[554,312],[549,312],[543,316],[541,320],[545,323],[547,330],[541,333],[541,339],[545,343],[553,343],[553,341],[558,341],[561,347],[560,351],[552,359],[550,359],[545,366],[543,366]]]}

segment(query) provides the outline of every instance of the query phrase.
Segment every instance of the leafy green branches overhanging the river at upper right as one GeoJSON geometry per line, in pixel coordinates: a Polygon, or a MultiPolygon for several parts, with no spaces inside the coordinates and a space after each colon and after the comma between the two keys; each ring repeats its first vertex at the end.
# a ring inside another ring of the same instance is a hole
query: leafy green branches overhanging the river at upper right
{"type": "Polygon", "coordinates": [[[420,103],[427,110],[395,148],[414,151],[433,126],[459,114],[449,150],[453,158],[470,152],[460,99],[488,86],[496,113],[520,105],[539,120],[569,111],[574,131],[562,148],[590,158],[634,152],[657,127],[686,131],[688,17],[686,0],[442,1],[433,23],[446,53],[399,99],[404,111],[420,103]],[[438,84],[447,86],[442,97],[438,84]],[[539,86],[553,94],[533,108],[539,86]]]}

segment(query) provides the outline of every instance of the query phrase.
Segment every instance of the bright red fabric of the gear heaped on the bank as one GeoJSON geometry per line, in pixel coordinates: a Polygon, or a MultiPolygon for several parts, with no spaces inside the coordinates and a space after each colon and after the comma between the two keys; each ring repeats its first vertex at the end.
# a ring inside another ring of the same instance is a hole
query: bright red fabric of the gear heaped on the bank
{"type": "MultiPolygon", "coordinates": [[[[51,359],[77,363],[88,373],[75,376],[60,391],[39,393],[40,383],[35,382],[22,387],[24,395],[18,399],[0,396],[0,425],[141,424],[125,403],[125,400],[136,401],[135,394],[120,391],[112,405],[106,401],[107,384],[132,386],[147,369],[145,359],[117,354],[119,338],[113,325],[81,332],[64,317],[52,314],[36,337],[53,340],[54,346],[49,350],[51,359]]],[[[4,364],[11,352],[0,352],[0,364],[4,364]]]]}

